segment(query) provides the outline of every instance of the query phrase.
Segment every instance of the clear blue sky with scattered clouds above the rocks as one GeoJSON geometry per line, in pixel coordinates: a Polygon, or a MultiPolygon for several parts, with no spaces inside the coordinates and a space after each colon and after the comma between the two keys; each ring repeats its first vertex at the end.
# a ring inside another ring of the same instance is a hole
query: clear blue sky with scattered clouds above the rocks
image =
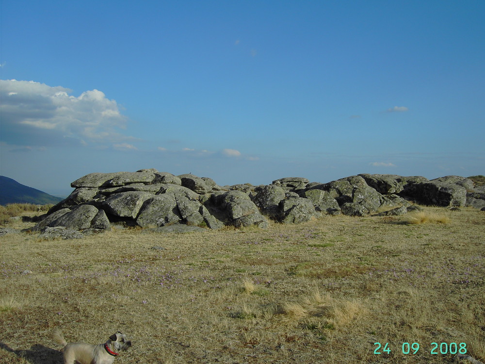
{"type": "Polygon", "coordinates": [[[48,193],[141,168],[485,174],[484,1],[0,6],[0,171],[48,193]]]}

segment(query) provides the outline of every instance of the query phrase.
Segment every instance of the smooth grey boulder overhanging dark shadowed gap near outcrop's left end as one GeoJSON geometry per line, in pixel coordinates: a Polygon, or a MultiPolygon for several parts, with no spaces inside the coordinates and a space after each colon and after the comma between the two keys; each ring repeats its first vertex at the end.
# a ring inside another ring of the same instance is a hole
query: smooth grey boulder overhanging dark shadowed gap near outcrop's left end
{"type": "Polygon", "coordinates": [[[140,208],[147,199],[153,195],[148,192],[129,191],[115,193],[104,200],[101,204],[105,212],[119,217],[136,218],[140,208]]]}

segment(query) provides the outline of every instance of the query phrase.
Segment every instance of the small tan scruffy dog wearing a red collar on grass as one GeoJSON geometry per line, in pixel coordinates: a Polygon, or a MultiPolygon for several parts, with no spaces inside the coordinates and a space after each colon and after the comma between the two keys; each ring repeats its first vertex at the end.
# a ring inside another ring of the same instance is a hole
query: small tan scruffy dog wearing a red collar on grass
{"type": "Polygon", "coordinates": [[[131,346],[131,341],[120,331],[110,336],[104,344],[67,343],[59,329],[52,332],[54,342],[64,347],[64,364],[113,364],[121,351],[131,346]]]}

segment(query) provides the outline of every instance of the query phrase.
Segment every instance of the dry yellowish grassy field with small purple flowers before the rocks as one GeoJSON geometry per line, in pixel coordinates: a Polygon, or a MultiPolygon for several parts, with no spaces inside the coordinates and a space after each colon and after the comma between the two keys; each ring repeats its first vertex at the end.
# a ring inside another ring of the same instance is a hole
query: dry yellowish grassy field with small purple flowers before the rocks
{"type": "Polygon", "coordinates": [[[454,363],[461,343],[484,361],[485,213],[424,212],[69,241],[4,235],[0,363],[61,363],[55,327],[68,342],[128,334],[133,347],[115,361],[125,364],[454,363]]]}

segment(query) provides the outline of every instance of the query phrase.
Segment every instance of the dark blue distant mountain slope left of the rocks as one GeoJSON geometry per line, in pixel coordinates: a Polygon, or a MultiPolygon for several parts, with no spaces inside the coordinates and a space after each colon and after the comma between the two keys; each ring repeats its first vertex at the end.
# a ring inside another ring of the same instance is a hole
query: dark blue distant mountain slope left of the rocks
{"type": "Polygon", "coordinates": [[[63,200],[35,188],[25,186],[11,178],[0,176],[0,205],[8,203],[33,203],[47,205],[63,200]]]}

